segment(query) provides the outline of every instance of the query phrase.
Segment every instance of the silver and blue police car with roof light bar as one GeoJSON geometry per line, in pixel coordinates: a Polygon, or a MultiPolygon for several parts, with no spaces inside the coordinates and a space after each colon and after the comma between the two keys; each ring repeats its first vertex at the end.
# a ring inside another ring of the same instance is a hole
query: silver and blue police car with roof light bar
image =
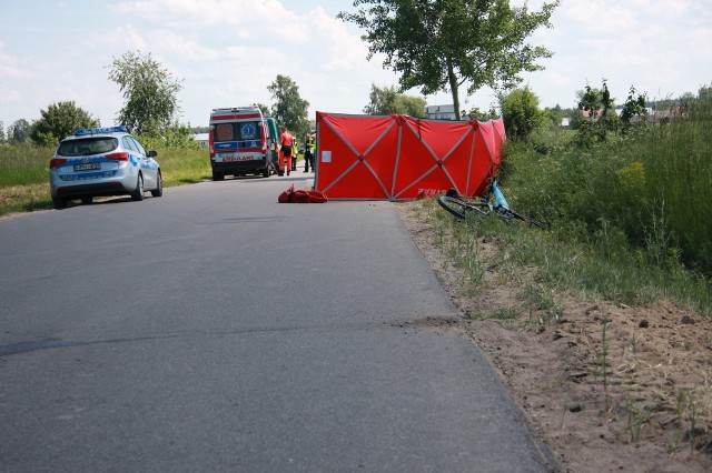
{"type": "Polygon", "coordinates": [[[55,209],[81,199],[90,203],[99,195],[131,195],[144,200],[150,191],[161,197],[164,182],[156,151],[144,149],[126,127],[78,129],[65,138],[49,164],[55,209]]]}

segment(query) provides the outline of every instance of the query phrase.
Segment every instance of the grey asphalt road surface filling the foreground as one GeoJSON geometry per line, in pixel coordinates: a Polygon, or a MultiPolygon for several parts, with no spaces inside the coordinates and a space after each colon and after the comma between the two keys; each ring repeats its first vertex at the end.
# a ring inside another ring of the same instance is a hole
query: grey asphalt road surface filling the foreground
{"type": "Polygon", "coordinates": [[[306,175],[0,220],[0,471],[551,469],[411,323],[456,310],[392,204],[277,203],[306,175]]]}

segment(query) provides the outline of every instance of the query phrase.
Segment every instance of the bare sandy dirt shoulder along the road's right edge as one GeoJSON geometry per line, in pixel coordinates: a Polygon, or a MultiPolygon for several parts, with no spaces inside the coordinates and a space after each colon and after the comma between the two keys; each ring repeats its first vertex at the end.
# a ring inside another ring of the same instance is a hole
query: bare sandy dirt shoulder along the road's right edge
{"type": "MultiPolygon", "coordinates": [[[[570,472],[712,471],[712,321],[675,304],[615,305],[555,293],[555,316],[530,308],[506,319],[521,288],[493,261],[468,295],[415,209],[395,207],[462,311],[423,326],[471,338],[488,356],[532,431],[570,472]]],[[[481,242],[487,254],[493,242],[481,242]]],[[[511,311],[512,312],[512,311],[511,311]]]]}

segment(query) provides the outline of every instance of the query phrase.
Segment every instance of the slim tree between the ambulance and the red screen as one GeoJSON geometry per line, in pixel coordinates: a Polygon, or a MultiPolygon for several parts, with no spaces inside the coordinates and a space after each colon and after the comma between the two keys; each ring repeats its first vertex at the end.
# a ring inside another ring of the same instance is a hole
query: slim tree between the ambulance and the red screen
{"type": "Polygon", "coordinates": [[[309,131],[309,102],[299,95],[299,87],[288,76],[277,74],[277,79],[267,87],[275,103],[271,117],[280,127],[286,127],[293,134],[304,137],[309,131]]]}

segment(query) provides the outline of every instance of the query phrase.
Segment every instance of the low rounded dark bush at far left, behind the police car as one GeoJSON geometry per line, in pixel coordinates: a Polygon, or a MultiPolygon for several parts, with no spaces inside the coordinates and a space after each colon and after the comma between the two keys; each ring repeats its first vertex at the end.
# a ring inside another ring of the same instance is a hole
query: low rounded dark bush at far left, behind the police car
{"type": "Polygon", "coordinates": [[[30,138],[37,144],[57,145],[77,128],[99,127],[99,120],[77,107],[72,101],[51,103],[47,110],[40,110],[41,119],[32,123],[30,138]]]}

